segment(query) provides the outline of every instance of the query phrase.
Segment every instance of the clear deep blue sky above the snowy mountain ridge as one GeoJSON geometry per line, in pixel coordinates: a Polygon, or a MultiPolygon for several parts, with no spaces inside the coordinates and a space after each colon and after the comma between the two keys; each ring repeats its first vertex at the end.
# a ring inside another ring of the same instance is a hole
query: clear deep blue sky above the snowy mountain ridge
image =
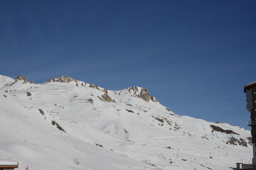
{"type": "Polygon", "coordinates": [[[0,74],[142,86],[174,113],[247,128],[255,8],[254,0],[1,0],[0,74]]]}

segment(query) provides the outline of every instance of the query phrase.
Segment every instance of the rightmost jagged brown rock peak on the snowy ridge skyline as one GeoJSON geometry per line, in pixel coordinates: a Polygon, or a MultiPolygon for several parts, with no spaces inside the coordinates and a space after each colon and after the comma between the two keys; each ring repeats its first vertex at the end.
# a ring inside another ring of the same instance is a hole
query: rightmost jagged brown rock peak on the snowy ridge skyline
{"type": "Polygon", "coordinates": [[[129,91],[129,93],[132,93],[134,96],[142,98],[146,102],[149,102],[149,101],[158,102],[154,96],[149,95],[149,91],[145,88],[132,86],[127,88],[127,91],[129,91]]]}

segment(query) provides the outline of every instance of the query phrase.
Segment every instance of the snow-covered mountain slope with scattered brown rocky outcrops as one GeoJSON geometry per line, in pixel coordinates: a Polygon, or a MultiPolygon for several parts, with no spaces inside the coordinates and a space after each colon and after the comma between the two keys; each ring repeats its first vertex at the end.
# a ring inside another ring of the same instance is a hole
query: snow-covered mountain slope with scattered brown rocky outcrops
{"type": "Polygon", "coordinates": [[[250,131],[176,115],[137,86],[0,76],[0,153],[19,169],[230,169],[252,158],[250,131]]]}

